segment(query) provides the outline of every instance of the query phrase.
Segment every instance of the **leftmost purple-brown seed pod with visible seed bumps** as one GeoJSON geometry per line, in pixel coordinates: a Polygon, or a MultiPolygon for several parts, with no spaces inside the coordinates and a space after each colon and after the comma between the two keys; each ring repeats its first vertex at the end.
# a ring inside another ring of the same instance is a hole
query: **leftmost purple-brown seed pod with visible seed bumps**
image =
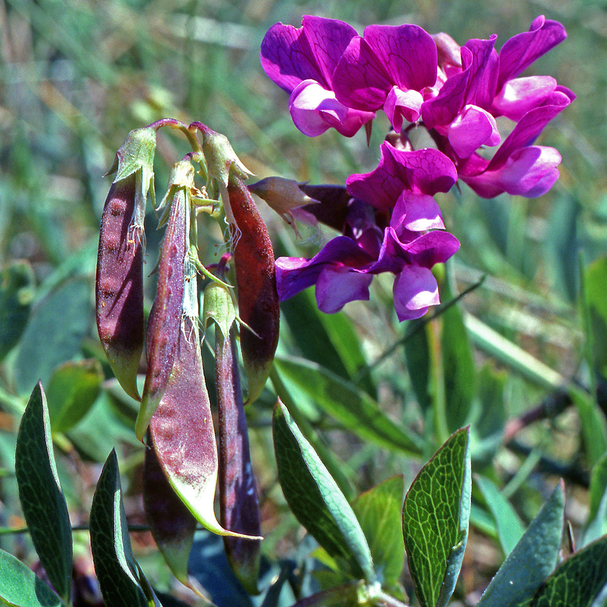
{"type": "MultiPolygon", "coordinates": [[[[140,177],[139,177],[140,178],[140,177]]],[[[101,216],[95,299],[97,330],[124,392],[139,400],[143,350],[143,225],[135,223],[138,173],[112,183],[101,216]]],[[[145,200],[143,200],[145,204],[145,200]]]]}

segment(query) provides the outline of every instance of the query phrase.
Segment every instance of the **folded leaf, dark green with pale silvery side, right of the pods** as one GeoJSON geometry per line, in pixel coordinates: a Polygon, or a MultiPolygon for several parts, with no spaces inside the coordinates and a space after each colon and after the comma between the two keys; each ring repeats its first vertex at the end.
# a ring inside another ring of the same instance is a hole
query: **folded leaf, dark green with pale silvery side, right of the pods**
{"type": "Polygon", "coordinates": [[[354,577],[375,582],[356,515],[280,399],[274,407],[273,435],[280,486],[297,520],[328,554],[344,558],[354,577]]]}

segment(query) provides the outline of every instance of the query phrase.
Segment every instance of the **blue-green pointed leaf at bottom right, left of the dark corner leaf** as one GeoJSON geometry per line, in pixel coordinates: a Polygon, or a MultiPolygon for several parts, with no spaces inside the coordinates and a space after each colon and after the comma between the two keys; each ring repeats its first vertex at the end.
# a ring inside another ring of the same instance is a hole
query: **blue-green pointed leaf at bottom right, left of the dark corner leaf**
{"type": "Polygon", "coordinates": [[[487,586],[477,607],[529,604],[557,563],[564,514],[565,486],[560,481],[487,586]]]}

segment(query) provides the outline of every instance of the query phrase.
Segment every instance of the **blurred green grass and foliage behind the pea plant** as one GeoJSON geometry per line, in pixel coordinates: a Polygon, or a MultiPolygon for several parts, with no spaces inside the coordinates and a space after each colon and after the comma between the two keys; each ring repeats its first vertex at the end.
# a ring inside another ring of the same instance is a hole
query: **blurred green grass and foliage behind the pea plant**
{"type": "MultiPolygon", "coordinates": [[[[447,32],[460,44],[498,33],[499,48],[510,36],[527,30],[542,13],[561,21],[568,39],[540,58],[532,72],[555,76],[577,95],[541,135],[540,143],[554,146],[563,157],[560,180],[551,192],[535,200],[508,195],[480,200],[462,185],[461,191],[441,196],[439,203],[447,228],[462,243],[449,266],[453,288],[461,291],[487,274],[483,285],[463,300],[464,308],[565,378],[588,386],[592,373],[586,365],[578,268],[580,251],[583,263],[589,263],[603,256],[607,245],[605,0],[2,0],[0,263],[9,268],[3,271],[2,281],[4,287],[12,285],[10,293],[22,314],[0,319],[1,357],[5,357],[0,365],[0,466],[7,475],[1,486],[0,523],[18,526],[19,522],[14,518],[19,507],[11,473],[24,398],[38,378],[45,386],[51,378],[61,385],[56,369],[66,361],[98,358],[103,362],[92,299],[98,226],[110,185],[110,178],[103,175],[127,132],[162,117],[186,123],[198,120],[226,134],[259,178],[282,175],[312,183],[344,183],[351,172],[375,167],[388,125],[382,118],[376,120],[368,147],[362,132],[350,140],[334,132],[314,139],[298,132],[287,112],[287,93],[274,86],[259,65],[259,45],[270,25],[277,21],[299,25],[304,14],[344,19],[361,32],[371,23],[413,22],[431,33],[447,32]],[[8,325],[18,334],[18,344],[10,341],[8,325]]],[[[186,151],[177,135],[160,133],[158,196],[163,195],[169,167],[186,151]]],[[[330,237],[322,229],[320,236],[305,233],[297,240],[265,205],[260,208],[281,254],[313,254],[319,239],[324,242],[330,237]]],[[[154,267],[160,239],[154,233],[151,211],[149,219],[146,274],[154,267]]],[[[202,226],[203,262],[217,261],[221,245],[217,225],[202,226]]],[[[153,276],[148,280],[149,307],[153,276]]],[[[391,309],[391,286],[390,280],[376,279],[371,301],[350,304],[345,310],[367,363],[406,330],[391,309]]],[[[2,297],[8,297],[7,290],[3,293],[2,297]]],[[[305,297],[300,297],[300,308],[285,310],[290,316],[280,346],[283,354],[302,353],[293,327],[298,314],[313,310],[305,297]]],[[[325,322],[319,313],[310,314],[316,322],[325,322]]],[[[344,318],[342,313],[327,325],[328,334],[339,331],[344,318]]],[[[602,337],[595,334],[597,341],[602,337]]],[[[598,350],[595,344],[595,350],[600,351],[601,344],[598,350]]],[[[415,391],[415,374],[409,378],[406,370],[411,356],[411,348],[409,358],[396,349],[373,369],[373,381],[360,385],[375,392],[390,415],[404,416],[422,427],[416,418],[424,412],[423,398],[415,391]]],[[[474,357],[479,368],[487,361],[480,351],[475,350],[474,357]]],[[[103,368],[89,365],[86,371],[88,380],[95,373],[110,378],[105,364],[103,368]]],[[[479,381],[484,392],[478,398],[491,406],[498,393],[505,403],[504,419],[524,416],[546,397],[545,385],[527,382],[520,373],[510,373],[507,365],[490,365],[479,381]],[[507,372],[498,372],[497,367],[507,372]]],[[[111,384],[104,385],[109,389],[93,390],[88,406],[93,402],[95,406],[87,415],[81,411],[83,420],[72,425],[69,438],[57,435],[56,442],[68,456],[60,470],[65,477],[62,482],[76,523],[86,523],[90,489],[99,472],[95,463],[119,444],[121,470],[131,479],[129,514],[135,523],[141,515],[137,470],[142,459],[132,433],[135,410],[119,390],[112,392],[111,384]]],[[[302,407],[308,404],[308,418],[347,460],[347,474],[358,490],[403,470],[405,478],[412,480],[419,462],[405,463],[401,455],[336,431],[309,398],[300,396],[302,407]]],[[[558,394],[548,396],[556,402],[557,412],[570,404],[566,399],[559,401],[558,394]]],[[[290,544],[284,534],[293,523],[285,523],[279,515],[284,503],[267,430],[272,401],[267,395],[265,402],[249,412],[253,458],[268,535],[265,549],[287,553],[290,544]]],[[[504,419],[496,422],[497,427],[503,427],[504,419]]],[[[495,456],[491,476],[501,486],[514,479],[508,497],[513,497],[525,520],[547,495],[546,481],[532,475],[538,469],[569,475],[569,518],[578,527],[586,520],[589,465],[579,425],[575,413],[567,409],[551,422],[519,433],[509,449],[491,452],[495,456]]],[[[428,447],[427,455],[432,452],[428,447]]],[[[151,577],[161,587],[170,586],[168,574],[149,549],[149,538],[141,534],[140,544],[140,551],[151,555],[145,565],[156,571],[151,577]]],[[[0,545],[27,560],[27,537],[10,535],[0,545]]],[[[499,563],[494,544],[472,536],[469,546],[467,565],[478,561],[491,569],[499,563]]],[[[475,571],[464,564],[468,592],[483,581],[482,568],[481,574],[475,571]]]]}

